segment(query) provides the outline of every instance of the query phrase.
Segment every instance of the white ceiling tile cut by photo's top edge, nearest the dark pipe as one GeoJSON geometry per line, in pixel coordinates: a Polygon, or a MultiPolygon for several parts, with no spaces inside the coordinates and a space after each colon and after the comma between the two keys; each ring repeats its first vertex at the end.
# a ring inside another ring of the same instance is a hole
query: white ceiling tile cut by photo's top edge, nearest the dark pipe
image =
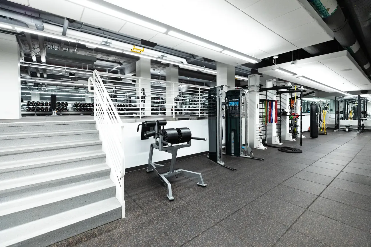
{"type": "Polygon", "coordinates": [[[296,0],[260,0],[243,11],[258,22],[266,23],[301,7],[296,0]]]}

